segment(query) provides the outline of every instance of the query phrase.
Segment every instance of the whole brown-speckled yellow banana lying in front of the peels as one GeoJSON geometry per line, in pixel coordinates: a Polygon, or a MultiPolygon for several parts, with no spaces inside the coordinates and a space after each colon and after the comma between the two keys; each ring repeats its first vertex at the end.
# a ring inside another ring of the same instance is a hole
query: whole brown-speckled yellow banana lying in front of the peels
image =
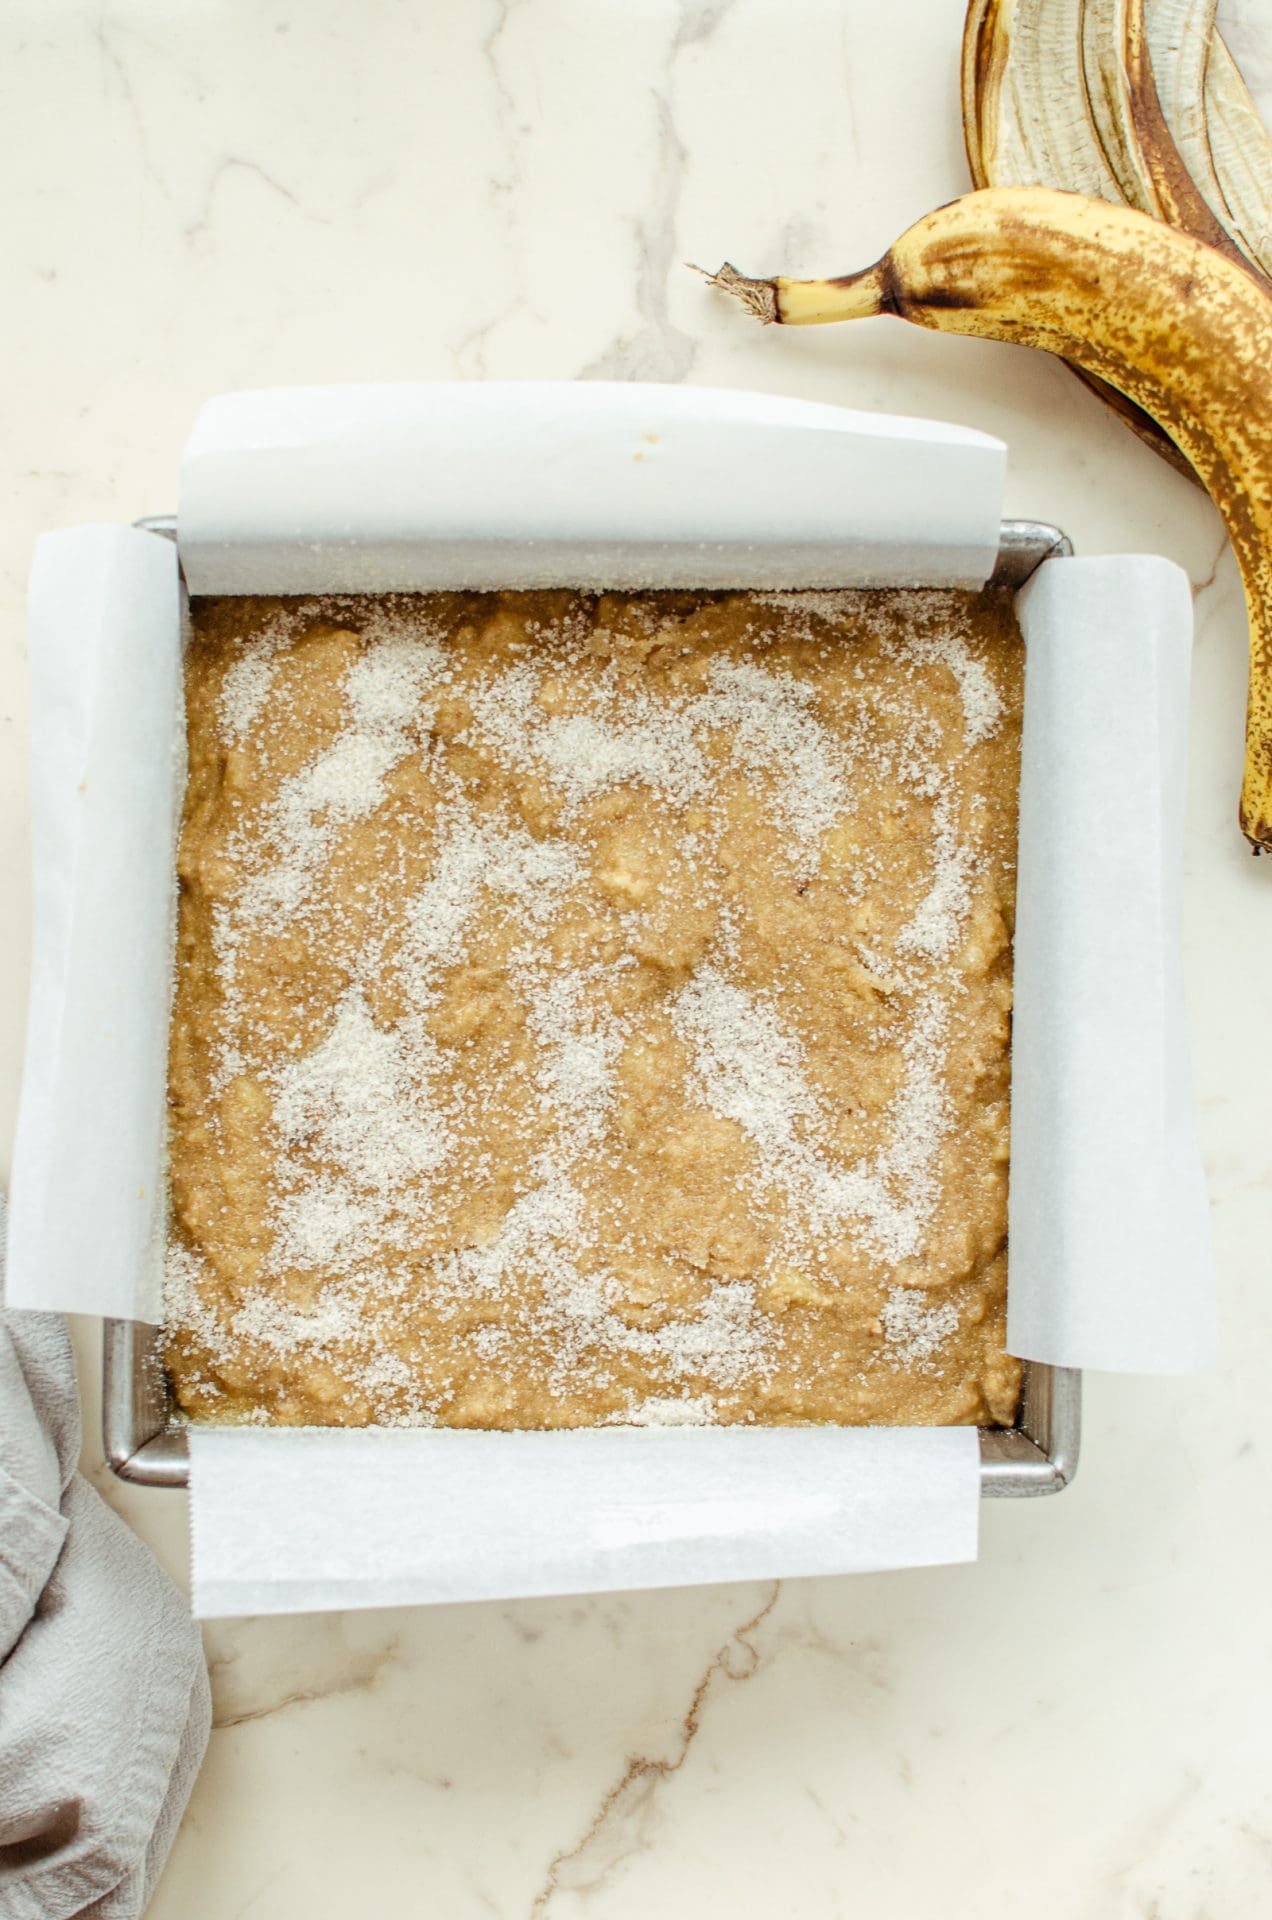
{"type": "Polygon", "coordinates": [[[1228,526],[1251,628],[1241,829],[1272,851],[1272,296],[1224,253],[1137,213],[1043,186],[991,186],[928,213],[834,280],[709,275],[761,321],[892,313],[1043,348],[1143,407],[1228,526]]]}

